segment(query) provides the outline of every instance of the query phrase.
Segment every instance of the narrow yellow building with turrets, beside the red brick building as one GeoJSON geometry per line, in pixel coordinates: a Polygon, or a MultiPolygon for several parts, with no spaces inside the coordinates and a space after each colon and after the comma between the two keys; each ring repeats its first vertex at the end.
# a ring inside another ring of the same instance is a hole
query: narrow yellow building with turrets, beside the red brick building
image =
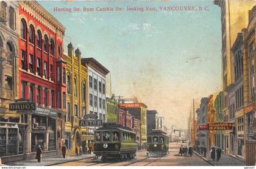
{"type": "Polygon", "coordinates": [[[85,145],[93,136],[88,136],[87,128],[79,126],[79,119],[87,114],[87,67],[81,64],[81,53],[77,48],[74,55],[72,43],[68,44],[66,61],[66,119],[65,144],[68,154],[76,153],[76,147],[85,145]]]}

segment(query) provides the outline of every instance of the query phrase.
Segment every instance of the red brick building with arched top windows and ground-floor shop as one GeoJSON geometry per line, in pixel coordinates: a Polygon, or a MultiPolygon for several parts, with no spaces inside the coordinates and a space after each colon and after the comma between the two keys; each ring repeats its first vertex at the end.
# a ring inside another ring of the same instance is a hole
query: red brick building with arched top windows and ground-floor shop
{"type": "Polygon", "coordinates": [[[41,145],[45,156],[60,154],[66,113],[65,27],[36,1],[19,2],[18,26],[20,98],[37,105],[21,113],[27,124],[23,153],[34,158],[41,145]]]}

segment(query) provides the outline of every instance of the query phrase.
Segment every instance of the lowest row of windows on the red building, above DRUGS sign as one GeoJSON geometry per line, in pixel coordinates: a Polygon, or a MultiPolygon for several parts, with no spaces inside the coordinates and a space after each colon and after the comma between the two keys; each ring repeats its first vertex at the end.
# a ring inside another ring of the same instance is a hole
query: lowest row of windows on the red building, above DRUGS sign
{"type": "MultiPolygon", "coordinates": [[[[26,86],[28,84],[25,81],[21,82],[21,98],[26,98],[26,86]]],[[[44,104],[44,106],[51,106],[52,108],[55,108],[55,93],[53,90],[49,90],[47,88],[41,88],[40,86],[37,86],[35,84],[30,84],[29,85],[29,100],[30,102],[33,102],[33,100],[35,100],[34,97],[37,97],[37,103],[38,105],[42,105],[44,104]],[[36,90],[36,93],[34,88],[36,90]],[[41,91],[43,91],[43,100],[41,100],[41,91]],[[51,92],[50,97],[48,98],[48,92],[51,92]],[[50,102],[48,104],[48,99],[50,99],[50,102]]],[[[62,98],[61,98],[61,92],[57,92],[57,108],[62,108],[61,105],[61,100],[63,102],[63,108],[66,108],[66,93],[62,92],[62,98]]]]}

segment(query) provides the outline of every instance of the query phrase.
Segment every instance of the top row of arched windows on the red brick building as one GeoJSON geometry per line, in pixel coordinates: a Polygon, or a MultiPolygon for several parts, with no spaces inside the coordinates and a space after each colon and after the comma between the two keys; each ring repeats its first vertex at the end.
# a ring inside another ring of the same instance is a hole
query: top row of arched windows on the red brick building
{"type": "MultiPolygon", "coordinates": [[[[27,24],[26,24],[26,21],[24,19],[21,19],[20,35],[21,35],[21,38],[23,40],[27,41],[27,24]]],[[[35,28],[32,25],[29,26],[29,43],[34,44],[34,45],[36,43],[38,49],[43,48],[44,52],[46,52],[46,53],[50,52],[50,55],[55,57],[55,43],[54,43],[54,40],[50,40],[50,44],[49,44],[48,36],[44,35],[43,43],[42,43],[41,31],[37,30],[37,33],[35,35],[35,28]],[[35,40],[35,36],[37,36],[36,40],[35,40]],[[50,51],[48,51],[48,46],[50,47],[50,51]]],[[[61,51],[62,51],[62,47],[59,45],[58,46],[58,57],[59,58],[62,54],[61,51]]]]}

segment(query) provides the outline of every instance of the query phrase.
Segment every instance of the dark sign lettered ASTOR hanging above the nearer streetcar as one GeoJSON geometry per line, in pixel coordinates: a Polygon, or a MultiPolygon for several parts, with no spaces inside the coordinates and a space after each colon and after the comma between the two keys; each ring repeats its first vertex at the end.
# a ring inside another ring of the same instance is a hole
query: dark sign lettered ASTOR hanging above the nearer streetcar
{"type": "Polygon", "coordinates": [[[102,120],[98,120],[98,116],[94,114],[87,114],[79,120],[79,126],[102,126],[102,120]]]}

